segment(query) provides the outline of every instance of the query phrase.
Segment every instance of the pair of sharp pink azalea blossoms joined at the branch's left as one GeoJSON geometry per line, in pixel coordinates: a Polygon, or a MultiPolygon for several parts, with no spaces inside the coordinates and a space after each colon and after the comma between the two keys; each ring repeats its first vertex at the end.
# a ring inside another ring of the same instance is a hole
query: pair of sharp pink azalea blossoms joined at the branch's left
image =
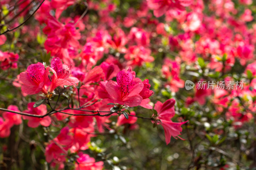
{"type": "Polygon", "coordinates": [[[31,64],[26,71],[20,73],[19,78],[23,83],[21,90],[26,94],[43,92],[46,97],[50,98],[56,87],[74,85],[79,82],[77,78],[69,77],[70,74],[70,68],[66,64],[62,64],[58,57],[53,58],[51,67],[46,69],[43,63],[31,64]],[[53,73],[51,81],[48,77],[49,70],[53,73]]]}

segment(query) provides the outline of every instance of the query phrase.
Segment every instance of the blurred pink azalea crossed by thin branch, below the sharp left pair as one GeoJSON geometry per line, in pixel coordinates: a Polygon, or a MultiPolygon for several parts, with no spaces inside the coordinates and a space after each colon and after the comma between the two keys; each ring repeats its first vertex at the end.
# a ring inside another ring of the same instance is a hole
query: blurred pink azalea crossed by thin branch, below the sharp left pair
{"type": "MultiPolygon", "coordinates": [[[[28,110],[25,110],[25,113],[33,114],[33,115],[45,115],[47,113],[46,105],[42,104],[36,108],[33,107],[35,102],[28,103],[28,110]]],[[[23,116],[23,119],[28,120],[28,127],[36,128],[41,124],[42,126],[50,126],[52,120],[49,116],[45,116],[43,118],[31,117],[31,116],[23,116]]]]}

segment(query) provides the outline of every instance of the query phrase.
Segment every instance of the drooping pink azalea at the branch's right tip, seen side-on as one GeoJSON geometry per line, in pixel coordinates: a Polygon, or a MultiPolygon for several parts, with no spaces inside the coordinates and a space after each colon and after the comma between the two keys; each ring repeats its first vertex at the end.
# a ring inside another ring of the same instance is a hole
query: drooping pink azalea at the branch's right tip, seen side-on
{"type": "Polygon", "coordinates": [[[157,118],[161,121],[157,122],[157,124],[161,124],[164,128],[166,144],[170,143],[171,137],[179,137],[178,135],[182,131],[181,125],[188,122],[172,122],[171,118],[175,115],[174,104],[174,99],[166,100],[164,103],[157,101],[154,108],[158,114],[157,118]]]}

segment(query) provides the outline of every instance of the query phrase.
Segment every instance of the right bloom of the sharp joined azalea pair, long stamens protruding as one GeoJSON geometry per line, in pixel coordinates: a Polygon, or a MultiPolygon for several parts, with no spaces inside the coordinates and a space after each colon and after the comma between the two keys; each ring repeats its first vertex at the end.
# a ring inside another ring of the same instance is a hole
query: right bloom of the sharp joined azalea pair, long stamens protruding
{"type": "Polygon", "coordinates": [[[77,78],[69,77],[71,70],[68,65],[62,63],[59,57],[52,59],[50,70],[53,72],[50,92],[60,85],[74,85],[79,82],[77,78]]]}

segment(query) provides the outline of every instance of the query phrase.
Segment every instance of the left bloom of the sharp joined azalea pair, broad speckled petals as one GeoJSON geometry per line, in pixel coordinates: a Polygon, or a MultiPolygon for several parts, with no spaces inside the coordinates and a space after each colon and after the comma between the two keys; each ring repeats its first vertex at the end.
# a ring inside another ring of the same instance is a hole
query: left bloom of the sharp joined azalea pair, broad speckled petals
{"type": "Polygon", "coordinates": [[[49,68],[44,68],[42,63],[31,64],[28,69],[20,73],[20,81],[24,83],[21,86],[21,90],[27,94],[36,94],[43,92],[47,95],[45,84],[49,80],[48,78],[49,68]]]}

